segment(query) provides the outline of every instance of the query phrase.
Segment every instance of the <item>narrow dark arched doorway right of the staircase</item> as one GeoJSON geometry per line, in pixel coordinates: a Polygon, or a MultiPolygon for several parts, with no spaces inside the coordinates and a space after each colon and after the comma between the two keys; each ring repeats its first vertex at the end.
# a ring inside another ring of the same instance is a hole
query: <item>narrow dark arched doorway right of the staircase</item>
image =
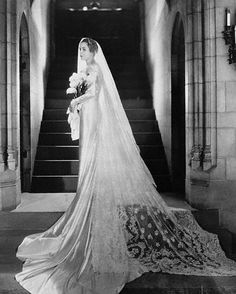
{"type": "Polygon", "coordinates": [[[178,13],[171,44],[171,130],[173,190],[185,194],[185,39],[184,26],[178,13]]]}

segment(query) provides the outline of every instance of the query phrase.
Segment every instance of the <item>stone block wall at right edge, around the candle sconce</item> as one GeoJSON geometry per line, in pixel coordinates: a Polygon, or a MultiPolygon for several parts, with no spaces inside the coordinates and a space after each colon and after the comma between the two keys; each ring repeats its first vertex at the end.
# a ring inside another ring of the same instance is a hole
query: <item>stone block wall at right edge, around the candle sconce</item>
{"type": "Polygon", "coordinates": [[[216,0],[217,173],[211,177],[211,198],[221,209],[221,222],[236,232],[236,65],[228,64],[228,46],[222,38],[225,8],[236,24],[235,1],[216,0]]]}

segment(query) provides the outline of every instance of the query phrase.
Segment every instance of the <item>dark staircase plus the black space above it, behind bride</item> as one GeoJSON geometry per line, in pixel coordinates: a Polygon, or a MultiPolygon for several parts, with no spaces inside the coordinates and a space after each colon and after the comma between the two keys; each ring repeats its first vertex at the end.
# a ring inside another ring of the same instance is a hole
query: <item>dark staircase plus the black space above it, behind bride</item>
{"type": "MultiPolygon", "coordinates": [[[[84,36],[101,45],[128,116],[141,156],[159,191],[170,191],[164,148],[152,107],[145,65],[140,58],[140,14],[136,1],[122,11],[83,12],[79,1],[58,0],[55,10],[56,59],[51,66],[31,191],[75,192],[79,141],[72,141],[66,109],[68,78],[77,66],[77,47],[84,36]],[[71,11],[70,7],[75,8],[71,11]]],[[[81,6],[82,5],[82,6],[81,6]]],[[[115,2],[103,5],[118,5],[115,2]]],[[[112,6],[111,6],[112,7],[112,6]]],[[[111,8],[110,7],[110,8],[111,8]]]]}

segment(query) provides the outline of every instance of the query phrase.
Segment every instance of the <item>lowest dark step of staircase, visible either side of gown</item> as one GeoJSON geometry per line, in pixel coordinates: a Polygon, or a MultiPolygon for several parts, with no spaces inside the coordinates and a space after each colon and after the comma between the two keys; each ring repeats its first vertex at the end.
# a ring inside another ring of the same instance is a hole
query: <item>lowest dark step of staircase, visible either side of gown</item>
{"type": "MultiPolygon", "coordinates": [[[[169,175],[153,175],[159,192],[171,190],[169,175]]],[[[77,176],[33,176],[31,192],[32,193],[60,193],[75,192],[78,185],[77,176]]]]}

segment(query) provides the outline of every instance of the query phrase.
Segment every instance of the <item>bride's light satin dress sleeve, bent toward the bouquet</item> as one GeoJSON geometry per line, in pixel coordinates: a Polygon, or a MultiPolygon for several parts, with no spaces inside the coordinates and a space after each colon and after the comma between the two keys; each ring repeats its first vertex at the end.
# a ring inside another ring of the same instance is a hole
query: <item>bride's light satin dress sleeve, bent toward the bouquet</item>
{"type": "Polygon", "coordinates": [[[87,90],[85,94],[75,98],[76,104],[81,104],[86,102],[87,100],[94,98],[96,96],[97,91],[97,79],[98,79],[98,69],[94,69],[92,72],[88,74],[87,77],[87,90]]]}

